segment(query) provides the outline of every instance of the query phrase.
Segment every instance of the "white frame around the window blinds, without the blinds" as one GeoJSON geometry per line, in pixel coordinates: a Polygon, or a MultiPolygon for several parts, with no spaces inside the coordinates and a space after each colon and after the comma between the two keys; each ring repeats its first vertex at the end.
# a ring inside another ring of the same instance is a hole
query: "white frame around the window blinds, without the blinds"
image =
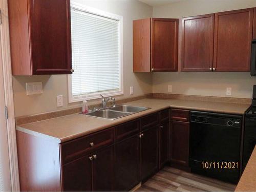
{"type": "Polygon", "coordinates": [[[71,75],[67,75],[69,103],[83,101],[85,99],[86,100],[98,99],[98,98],[101,98],[101,96],[99,94],[102,94],[104,97],[123,95],[123,17],[120,15],[116,15],[113,13],[109,13],[106,11],[88,7],[88,6],[85,6],[85,5],[82,5],[79,3],[75,3],[75,2],[71,2],[70,8],[78,9],[78,10],[81,10],[81,11],[84,11],[87,13],[91,13],[94,15],[103,16],[106,18],[111,18],[111,19],[115,19],[115,20],[119,21],[118,25],[119,25],[119,40],[120,40],[119,41],[119,52],[120,52],[119,87],[120,87],[120,89],[117,91],[102,91],[102,92],[91,93],[91,94],[87,94],[87,95],[73,96],[73,94],[72,94],[72,77],[71,77],[71,75]]]}

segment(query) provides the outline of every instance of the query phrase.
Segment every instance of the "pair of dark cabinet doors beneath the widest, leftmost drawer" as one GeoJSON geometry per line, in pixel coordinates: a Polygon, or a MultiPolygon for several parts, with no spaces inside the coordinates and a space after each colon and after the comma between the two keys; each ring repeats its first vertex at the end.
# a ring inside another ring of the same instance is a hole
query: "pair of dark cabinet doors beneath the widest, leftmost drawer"
{"type": "Polygon", "coordinates": [[[62,166],[62,190],[111,191],[114,183],[114,145],[62,166]],[[91,158],[91,160],[90,160],[91,158]]]}

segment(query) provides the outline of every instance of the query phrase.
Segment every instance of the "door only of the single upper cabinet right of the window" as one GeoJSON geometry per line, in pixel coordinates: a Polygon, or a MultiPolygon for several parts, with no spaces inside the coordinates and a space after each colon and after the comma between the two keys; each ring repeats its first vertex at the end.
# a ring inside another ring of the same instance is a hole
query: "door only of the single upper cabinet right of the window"
{"type": "Polygon", "coordinates": [[[152,18],[152,71],[178,70],[178,23],[179,19],[152,18]]]}

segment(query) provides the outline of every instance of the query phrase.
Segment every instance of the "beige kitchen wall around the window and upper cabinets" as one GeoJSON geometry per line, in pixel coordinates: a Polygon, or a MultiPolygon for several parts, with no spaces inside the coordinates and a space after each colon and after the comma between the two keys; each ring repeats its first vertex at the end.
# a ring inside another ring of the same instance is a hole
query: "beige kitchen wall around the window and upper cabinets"
{"type": "MultiPolygon", "coordinates": [[[[255,0],[188,0],[152,8],[136,0],[75,0],[103,11],[123,16],[124,95],[130,97],[151,93],[167,93],[167,85],[173,85],[175,94],[226,96],[226,87],[232,87],[232,97],[251,98],[256,77],[248,72],[155,72],[133,73],[132,20],[151,17],[182,18],[219,11],[256,7],[255,0]],[[152,77],[153,76],[153,77],[152,77]],[[153,88],[152,88],[153,83],[153,88]]],[[[181,27],[181,25],[180,25],[181,27]]],[[[179,33],[179,38],[181,33],[179,33]]],[[[179,50],[181,46],[179,45],[179,50]]],[[[180,59],[179,59],[180,60],[180,59]]],[[[68,103],[66,75],[13,76],[15,116],[32,115],[80,106],[68,103]],[[26,82],[42,81],[44,93],[26,95],[26,82]],[[57,108],[56,96],[63,95],[63,107],[57,108]]]]}

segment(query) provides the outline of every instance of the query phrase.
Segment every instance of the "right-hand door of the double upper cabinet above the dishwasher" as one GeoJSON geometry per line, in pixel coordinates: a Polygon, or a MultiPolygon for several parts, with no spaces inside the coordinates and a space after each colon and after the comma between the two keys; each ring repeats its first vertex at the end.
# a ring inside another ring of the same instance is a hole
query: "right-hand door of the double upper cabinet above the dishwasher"
{"type": "Polygon", "coordinates": [[[253,8],[215,14],[214,70],[250,71],[253,8]]]}

